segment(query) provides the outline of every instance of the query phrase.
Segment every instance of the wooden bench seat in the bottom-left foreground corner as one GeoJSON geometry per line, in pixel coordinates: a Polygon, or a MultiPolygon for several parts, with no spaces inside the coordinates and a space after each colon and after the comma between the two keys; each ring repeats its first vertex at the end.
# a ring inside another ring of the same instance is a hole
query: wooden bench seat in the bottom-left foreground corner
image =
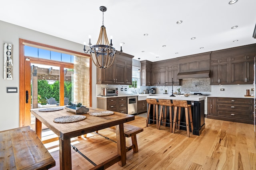
{"type": "Polygon", "coordinates": [[[0,132],[0,169],[45,170],[55,160],[29,126],[0,132]]]}

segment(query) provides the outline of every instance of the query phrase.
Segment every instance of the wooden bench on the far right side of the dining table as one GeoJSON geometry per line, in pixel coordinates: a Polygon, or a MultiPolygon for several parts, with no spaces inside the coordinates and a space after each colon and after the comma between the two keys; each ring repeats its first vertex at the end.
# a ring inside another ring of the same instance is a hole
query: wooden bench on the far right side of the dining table
{"type": "MultiPolygon", "coordinates": [[[[108,127],[106,129],[116,133],[116,126],[108,127]]],[[[143,131],[142,127],[137,127],[134,125],[124,123],[124,135],[125,135],[125,137],[131,137],[131,139],[132,139],[132,145],[130,147],[126,147],[126,152],[128,152],[131,149],[133,149],[134,152],[139,151],[136,134],[138,134],[142,131],[143,131]]],[[[96,133],[98,133],[98,131],[96,131],[96,133]]],[[[79,137],[81,137],[81,136],[79,136],[79,137]]],[[[86,137],[86,135],[84,135],[84,137],[86,137]]]]}

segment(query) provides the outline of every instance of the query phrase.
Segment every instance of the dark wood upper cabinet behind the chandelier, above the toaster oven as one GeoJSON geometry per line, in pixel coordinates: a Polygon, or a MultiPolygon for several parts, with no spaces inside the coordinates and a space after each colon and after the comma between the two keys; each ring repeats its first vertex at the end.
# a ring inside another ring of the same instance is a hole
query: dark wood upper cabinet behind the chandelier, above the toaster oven
{"type": "Polygon", "coordinates": [[[132,58],[126,53],[118,54],[110,68],[97,68],[97,84],[132,84],[132,58]]]}

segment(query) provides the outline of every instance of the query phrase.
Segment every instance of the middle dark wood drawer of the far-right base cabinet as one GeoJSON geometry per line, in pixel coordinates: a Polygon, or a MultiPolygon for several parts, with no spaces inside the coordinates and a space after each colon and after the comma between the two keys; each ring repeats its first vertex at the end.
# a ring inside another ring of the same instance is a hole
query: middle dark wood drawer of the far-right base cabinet
{"type": "Polygon", "coordinates": [[[238,112],[238,111],[252,112],[252,105],[217,103],[217,109],[229,109],[229,110],[234,110],[235,112],[238,112]]]}

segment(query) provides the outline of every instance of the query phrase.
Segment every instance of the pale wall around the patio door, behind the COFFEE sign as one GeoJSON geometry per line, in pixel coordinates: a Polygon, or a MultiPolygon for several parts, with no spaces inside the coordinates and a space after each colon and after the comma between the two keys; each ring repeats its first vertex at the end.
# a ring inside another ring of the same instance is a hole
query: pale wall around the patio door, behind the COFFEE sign
{"type": "MultiPolygon", "coordinates": [[[[56,30],[61,31],[61,30],[56,30]]],[[[0,21],[0,131],[19,127],[19,38],[83,53],[83,45],[0,21]],[[13,45],[13,80],[4,80],[4,43],[13,45]],[[6,93],[17,87],[18,93],[6,93]]],[[[96,67],[92,68],[92,107],[96,107],[96,67]]]]}

